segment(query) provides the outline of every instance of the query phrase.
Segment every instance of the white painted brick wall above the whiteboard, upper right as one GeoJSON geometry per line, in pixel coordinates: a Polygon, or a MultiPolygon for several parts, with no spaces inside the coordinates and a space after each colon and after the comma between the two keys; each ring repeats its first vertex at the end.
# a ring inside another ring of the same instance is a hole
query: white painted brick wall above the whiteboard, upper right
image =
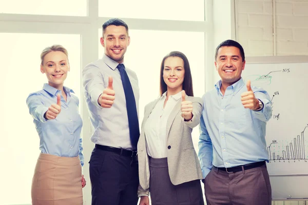
{"type": "MultiPolygon", "coordinates": [[[[274,55],[273,0],[236,0],[237,40],[247,56],[274,55]]],[[[277,55],[308,55],[308,0],[276,0],[277,55]]]]}

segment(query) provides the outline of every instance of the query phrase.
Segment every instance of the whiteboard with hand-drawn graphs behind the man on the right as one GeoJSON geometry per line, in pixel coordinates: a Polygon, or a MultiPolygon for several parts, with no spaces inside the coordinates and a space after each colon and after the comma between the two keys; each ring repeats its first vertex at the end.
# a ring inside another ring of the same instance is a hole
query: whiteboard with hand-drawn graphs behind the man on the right
{"type": "MultiPolygon", "coordinates": [[[[251,61],[258,62],[258,59],[254,57],[251,61]]],[[[245,81],[251,80],[255,95],[260,88],[266,91],[266,98],[272,106],[271,115],[267,113],[266,116],[266,126],[256,130],[263,144],[262,159],[267,161],[270,176],[308,176],[308,97],[305,94],[308,61],[281,63],[278,60],[272,63],[275,59],[271,59],[271,63],[267,63],[267,59],[262,60],[260,58],[260,63],[246,63],[242,73],[245,81]]],[[[261,93],[258,97],[264,99],[261,93]]],[[[260,119],[259,116],[256,118],[260,119]]],[[[249,116],[245,117],[251,121],[249,116]]],[[[253,153],[254,150],[252,156],[253,153]]]]}

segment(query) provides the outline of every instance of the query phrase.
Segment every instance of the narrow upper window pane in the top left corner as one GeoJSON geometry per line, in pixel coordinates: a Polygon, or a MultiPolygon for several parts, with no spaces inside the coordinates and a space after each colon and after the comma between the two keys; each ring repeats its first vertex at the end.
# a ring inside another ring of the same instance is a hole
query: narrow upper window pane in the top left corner
{"type": "Polygon", "coordinates": [[[0,13],[86,16],[87,0],[1,0],[0,13]]]}

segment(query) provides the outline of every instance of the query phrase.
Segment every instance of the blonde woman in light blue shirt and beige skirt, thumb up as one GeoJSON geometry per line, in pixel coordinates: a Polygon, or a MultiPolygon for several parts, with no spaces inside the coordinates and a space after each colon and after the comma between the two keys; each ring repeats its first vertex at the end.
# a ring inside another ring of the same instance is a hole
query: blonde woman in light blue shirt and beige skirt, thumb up
{"type": "Polygon", "coordinates": [[[82,119],[78,97],[63,86],[69,70],[68,52],[63,46],[45,48],[41,72],[48,84],[27,98],[41,150],[32,179],[33,205],[83,204],[82,119]]]}

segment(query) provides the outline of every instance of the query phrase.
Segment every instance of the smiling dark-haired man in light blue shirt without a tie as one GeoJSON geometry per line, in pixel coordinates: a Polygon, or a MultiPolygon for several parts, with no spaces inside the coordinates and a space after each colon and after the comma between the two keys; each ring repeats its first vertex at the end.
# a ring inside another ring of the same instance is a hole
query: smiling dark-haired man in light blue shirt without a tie
{"type": "Polygon", "coordinates": [[[245,84],[242,46],[225,40],[216,49],[215,67],[221,80],[203,96],[199,160],[206,202],[271,204],[266,169],[266,121],[272,115],[267,92],[245,84]]]}

